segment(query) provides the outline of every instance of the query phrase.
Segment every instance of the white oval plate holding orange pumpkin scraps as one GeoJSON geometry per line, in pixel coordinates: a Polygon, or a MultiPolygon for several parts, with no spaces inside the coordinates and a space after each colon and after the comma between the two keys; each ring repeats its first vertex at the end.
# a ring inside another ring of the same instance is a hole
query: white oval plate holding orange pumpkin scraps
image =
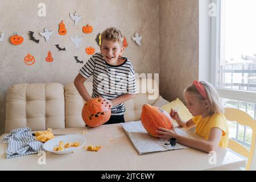
{"type": "Polygon", "coordinates": [[[53,152],[55,154],[68,154],[71,153],[79,148],[81,148],[86,142],[85,137],[82,137],[80,135],[64,135],[61,137],[56,137],[53,139],[48,140],[46,143],[44,143],[44,150],[53,152]],[[63,141],[64,145],[68,142],[79,142],[80,146],[79,147],[69,147],[69,148],[64,148],[63,151],[53,151],[54,147],[59,146],[59,142],[63,141]]]}

